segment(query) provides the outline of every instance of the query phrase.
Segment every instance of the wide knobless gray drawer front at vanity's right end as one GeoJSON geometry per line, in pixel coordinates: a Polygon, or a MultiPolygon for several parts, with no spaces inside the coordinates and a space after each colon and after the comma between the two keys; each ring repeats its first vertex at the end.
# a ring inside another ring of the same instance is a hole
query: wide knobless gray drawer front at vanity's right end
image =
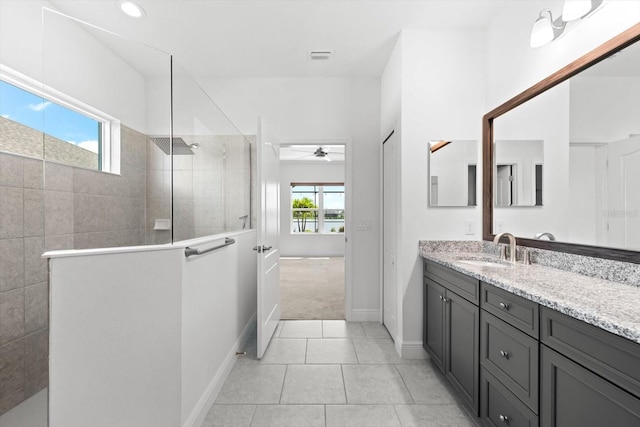
{"type": "Polygon", "coordinates": [[[540,340],[640,397],[640,344],[542,307],[540,340]]]}

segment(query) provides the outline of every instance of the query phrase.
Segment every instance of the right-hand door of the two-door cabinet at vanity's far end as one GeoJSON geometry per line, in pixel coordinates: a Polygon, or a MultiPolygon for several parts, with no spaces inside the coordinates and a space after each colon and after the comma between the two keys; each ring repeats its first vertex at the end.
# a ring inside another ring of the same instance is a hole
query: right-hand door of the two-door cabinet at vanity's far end
{"type": "Polygon", "coordinates": [[[445,374],[478,415],[480,309],[447,291],[445,318],[445,374]]]}

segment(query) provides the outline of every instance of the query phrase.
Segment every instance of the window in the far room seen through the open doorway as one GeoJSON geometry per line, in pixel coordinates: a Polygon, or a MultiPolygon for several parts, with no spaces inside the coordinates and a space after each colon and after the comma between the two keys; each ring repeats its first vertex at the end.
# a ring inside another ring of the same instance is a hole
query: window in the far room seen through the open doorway
{"type": "Polygon", "coordinates": [[[344,233],[344,183],[292,183],[291,232],[344,233]]]}

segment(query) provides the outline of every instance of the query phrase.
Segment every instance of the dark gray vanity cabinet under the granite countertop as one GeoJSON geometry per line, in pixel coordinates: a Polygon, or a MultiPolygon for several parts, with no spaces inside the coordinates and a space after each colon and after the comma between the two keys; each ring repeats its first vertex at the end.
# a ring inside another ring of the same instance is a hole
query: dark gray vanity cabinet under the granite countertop
{"type": "Polygon", "coordinates": [[[429,261],[424,348],[488,426],[640,426],[640,344],[429,261]]]}

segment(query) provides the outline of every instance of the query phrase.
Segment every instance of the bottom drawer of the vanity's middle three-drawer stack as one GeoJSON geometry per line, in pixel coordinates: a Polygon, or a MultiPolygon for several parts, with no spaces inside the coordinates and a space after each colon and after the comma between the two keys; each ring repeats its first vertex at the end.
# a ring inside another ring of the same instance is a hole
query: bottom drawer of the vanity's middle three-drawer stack
{"type": "Polygon", "coordinates": [[[486,369],[480,371],[480,418],[488,426],[537,427],[538,417],[486,369]]]}

